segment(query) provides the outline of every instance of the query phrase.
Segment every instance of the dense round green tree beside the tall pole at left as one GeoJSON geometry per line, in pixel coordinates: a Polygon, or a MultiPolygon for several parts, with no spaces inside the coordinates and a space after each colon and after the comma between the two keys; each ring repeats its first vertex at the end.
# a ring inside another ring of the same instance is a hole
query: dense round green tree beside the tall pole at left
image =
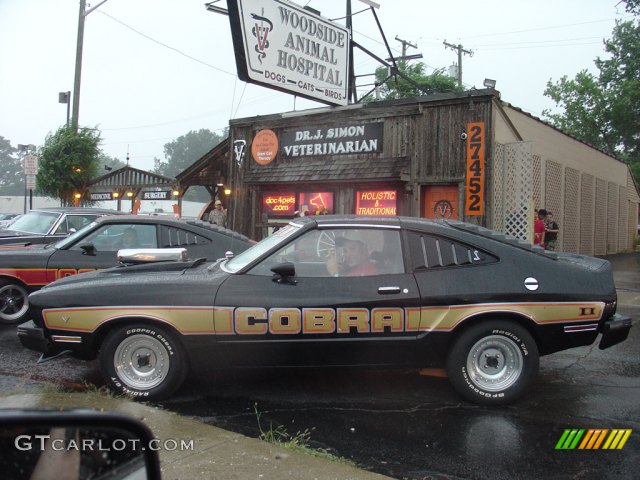
{"type": "Polygon", "coordinates": [[[62,126],[47,135],[40,148],[40,168],[36,182],[45,195],[59,198],[63,205],[73,205],[74,194],[97,176],[100,158],[100,132],[62,126]]]}

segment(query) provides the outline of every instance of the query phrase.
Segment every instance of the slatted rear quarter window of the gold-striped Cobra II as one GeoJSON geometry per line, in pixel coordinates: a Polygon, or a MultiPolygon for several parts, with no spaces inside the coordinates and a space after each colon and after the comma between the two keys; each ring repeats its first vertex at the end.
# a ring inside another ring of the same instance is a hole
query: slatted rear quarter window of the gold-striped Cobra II
{"type": "Polygon", "coordinates": [[[498,259],[478,248],[444,237],[412,232],[409,248],[414,270],[493,263],[498,259]]]}

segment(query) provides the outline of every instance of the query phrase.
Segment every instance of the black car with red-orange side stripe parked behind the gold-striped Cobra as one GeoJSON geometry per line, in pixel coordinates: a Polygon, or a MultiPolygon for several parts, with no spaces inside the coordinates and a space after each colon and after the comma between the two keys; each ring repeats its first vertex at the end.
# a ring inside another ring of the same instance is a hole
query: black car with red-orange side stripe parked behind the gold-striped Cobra
{"type": "Polygon", "coordinates": [[[54,244],[0,248],[0,323],[24,321],[28,294],[54,280],[117,265],[120,249],[184,247],[191,258],[216,260],[251,245],[244,235],[206,222],[141,215],[99,217],[54,244]]]}

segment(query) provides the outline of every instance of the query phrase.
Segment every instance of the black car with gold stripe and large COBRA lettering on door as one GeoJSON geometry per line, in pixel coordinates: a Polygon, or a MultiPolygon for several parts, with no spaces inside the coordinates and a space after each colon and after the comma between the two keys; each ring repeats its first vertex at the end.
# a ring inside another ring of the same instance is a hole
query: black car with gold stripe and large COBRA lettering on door
{"type": "Polygon", "coordinates": [[[303,217],[230,260],[116,267],[30,297],[22,343],[96,356],[115,390],[167,397],[191,366],[446,368],[484,404],[540,355],[626,339],[606,260],[460,222],[303,217]]]}

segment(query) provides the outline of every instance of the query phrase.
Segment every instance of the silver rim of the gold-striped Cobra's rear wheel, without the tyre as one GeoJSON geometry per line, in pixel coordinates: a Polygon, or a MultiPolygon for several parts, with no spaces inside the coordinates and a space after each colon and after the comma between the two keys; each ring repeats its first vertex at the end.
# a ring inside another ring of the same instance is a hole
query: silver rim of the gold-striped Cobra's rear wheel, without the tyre
{"type": "Polygon", "coordinates": [[[469,379],[488,392],[512,386],[522,374],[523,367],[524,360],[518,345],[499,335],[478,340],[467,355],[469,379]]]}

